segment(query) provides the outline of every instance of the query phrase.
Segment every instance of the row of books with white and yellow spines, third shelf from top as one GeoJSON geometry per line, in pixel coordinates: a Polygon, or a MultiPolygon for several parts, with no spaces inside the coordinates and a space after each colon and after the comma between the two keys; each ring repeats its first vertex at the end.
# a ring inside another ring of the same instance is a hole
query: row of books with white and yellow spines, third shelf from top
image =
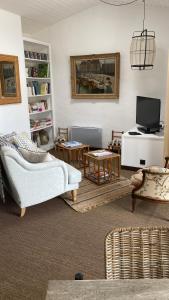
{"type": "Polygon", "coordinates": [[[32,81],[27,83],[28,97],[50,94],[50,82],[32,81]]]}

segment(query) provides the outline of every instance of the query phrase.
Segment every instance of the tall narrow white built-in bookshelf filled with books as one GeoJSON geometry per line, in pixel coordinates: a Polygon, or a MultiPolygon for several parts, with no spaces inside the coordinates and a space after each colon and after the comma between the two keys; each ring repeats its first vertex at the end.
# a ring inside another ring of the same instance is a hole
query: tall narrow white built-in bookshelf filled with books
{"type": "Polygon", "coordinates": [[[54,147],[55,134],[50,44],[29,38],[23,41],[31,138],[49,150],[54,147]],[[42,144],[44,133],[49,137],[46,145],[42,144]]]}

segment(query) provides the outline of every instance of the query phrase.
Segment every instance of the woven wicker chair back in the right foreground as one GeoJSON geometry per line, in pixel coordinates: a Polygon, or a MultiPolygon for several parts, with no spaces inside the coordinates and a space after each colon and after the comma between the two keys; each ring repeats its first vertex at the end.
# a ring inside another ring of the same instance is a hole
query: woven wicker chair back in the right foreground
{"type": "Polygon", "coordinates": [[[169,228],[112,230],[105,240],[106,278],[169,278],[169,228]]]}

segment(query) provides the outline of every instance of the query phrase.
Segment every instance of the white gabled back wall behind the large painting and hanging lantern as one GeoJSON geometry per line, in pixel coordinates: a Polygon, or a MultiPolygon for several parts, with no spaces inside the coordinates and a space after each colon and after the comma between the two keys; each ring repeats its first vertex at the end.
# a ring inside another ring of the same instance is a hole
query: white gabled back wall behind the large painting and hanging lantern
{"type": "Polygon", "coordinates": [[[151,7],[146,16],[149,30],[156,32],[157,54],[152,71],[130,69],[130,43],[134,30],[142,30],[143,7],[115,8],[101,4],[60,21],[37,38],[50,41],[53,54],[55,114],[57,126],[101,126],[106,146],[111,130],[128,130],[135,125],[136,96],[162,100],[164,115],[169,9],[151,7]],[[119,100],[73,100],[70,87],[70,55],[120,52],[119,100]]]}

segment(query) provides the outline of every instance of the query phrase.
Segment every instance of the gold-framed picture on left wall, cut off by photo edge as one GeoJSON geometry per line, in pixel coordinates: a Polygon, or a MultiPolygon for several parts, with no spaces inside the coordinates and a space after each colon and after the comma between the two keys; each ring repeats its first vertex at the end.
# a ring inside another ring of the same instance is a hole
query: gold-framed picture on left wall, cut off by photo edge
{"type": "Polygon", "coordinates": [[[20,102],[18,57],[0,54],[0,105],[20,102]]]}

